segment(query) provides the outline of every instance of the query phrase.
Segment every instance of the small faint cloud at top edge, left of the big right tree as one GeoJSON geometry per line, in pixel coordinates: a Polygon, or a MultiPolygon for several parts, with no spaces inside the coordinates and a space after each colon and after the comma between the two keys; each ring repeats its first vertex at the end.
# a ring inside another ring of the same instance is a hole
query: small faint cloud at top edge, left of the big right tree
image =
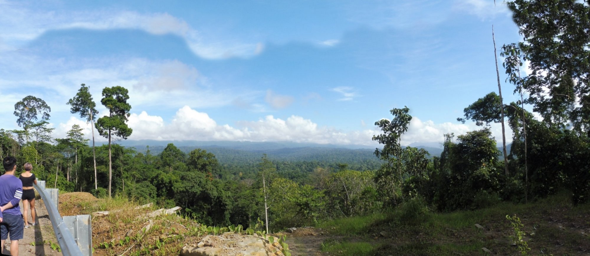
{"type": "Polygon", "coordinates": [[[455,0],[453,8],[456,11],[467,12],[476,15],[480,19],[490,19],[503,14],[510,15],[510,10],[505,1],[496,0],[455,0]]]}

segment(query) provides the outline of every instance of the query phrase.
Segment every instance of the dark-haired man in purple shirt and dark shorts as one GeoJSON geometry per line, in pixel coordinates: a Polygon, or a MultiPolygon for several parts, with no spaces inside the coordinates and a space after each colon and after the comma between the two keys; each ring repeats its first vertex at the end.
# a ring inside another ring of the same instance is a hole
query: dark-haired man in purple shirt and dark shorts
{"type": "Polygon", "coordinates": [[[17,171],[17,159],[5,157],[2,165],[6,170],[0,176],[0,250],[10,234],[10,254],[18,256],[18,240],[22,239],[25,223],[22,220],[21,208],[18,202],[22,197],[22,182],[14,176],[17,171]]]}

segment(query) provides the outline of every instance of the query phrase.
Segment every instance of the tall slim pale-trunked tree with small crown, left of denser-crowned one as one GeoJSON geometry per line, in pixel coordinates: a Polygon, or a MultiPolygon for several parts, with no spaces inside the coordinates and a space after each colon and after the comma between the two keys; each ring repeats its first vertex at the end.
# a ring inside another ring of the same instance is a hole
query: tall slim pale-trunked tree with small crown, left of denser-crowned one
{"type": "Polygon", "coordinates": [[[98,188],[97,185],[97,175],[96,175],[96,151],[94,149],[94,119],[96,114],[99,111],[96,111],[96,103],[92,100],[92,95],[90,94],[90,87],[86,87],[85,84],[81,84],[80,89],[78,89],[78,93],[74,98],[71,98],[68,101],[68,105],[71,105],[70,112],[72,114],[78,113],[80,114],[81,118],[86,117],[86,122],[90,122],[92,130],[92,157],[94,159],[94,189],[98,188]]]}

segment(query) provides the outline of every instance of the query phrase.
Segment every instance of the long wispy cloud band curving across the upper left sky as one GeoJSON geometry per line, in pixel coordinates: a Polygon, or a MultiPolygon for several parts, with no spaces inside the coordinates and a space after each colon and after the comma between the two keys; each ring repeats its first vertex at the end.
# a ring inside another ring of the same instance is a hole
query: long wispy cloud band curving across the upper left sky
{"type": "MultiPolygon", "coordinates": [[[[0,2],[0,24],[4,24],[0,30],[0,38],[4,39],[4,44],[20,45],[55,29],[140,29],[154,35],[181,36],[196,55],[206,59],[235,56],[247,58],[264,50],[264,45],[260,42],[241,42],[231,37],[212,41],[211,38],[219,35],[205,35],[168,13],[140,14],[113,9],[48,12],[24,6],[27,5],[0,2]]],[[[0,41],[0,49],[5,48],[8,49],[9,46],[3,46],[0,41]]]]}

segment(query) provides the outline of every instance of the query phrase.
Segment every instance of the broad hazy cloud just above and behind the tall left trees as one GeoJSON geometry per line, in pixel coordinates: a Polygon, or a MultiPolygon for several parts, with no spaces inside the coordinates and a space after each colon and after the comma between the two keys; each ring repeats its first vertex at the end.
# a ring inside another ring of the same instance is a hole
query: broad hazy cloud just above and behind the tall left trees
{"type": "MultiPolygon", "coordinates": [[[[0,65],[3,62],[0,60],[0,65]]],[[[60,64],[56,68],[51,67],[49,62],[37,62],[34,69],[40,74],[30,75],[27,79],[18,76],[0,79],[0,92],[11,92],[2,94],[0,101],[14,104],[15,99],[34,92],[35,96],[47,101],[52,111],[69,112],[70,106],[64,102],[76,95],[82,83],[90,87],[99,108],[102,107],[99,102],[101,89],[115,85],[129,89],[129,102],[133,108],[222,107],[230,105],[231,99],[237,95],[248,95],[235,89],[211,88],[207,77],[191,65],[179,61],[136,58],[91,59],[88,63],[80,67],[73,67],[76,66],[73,63],[60,64]]]]}

